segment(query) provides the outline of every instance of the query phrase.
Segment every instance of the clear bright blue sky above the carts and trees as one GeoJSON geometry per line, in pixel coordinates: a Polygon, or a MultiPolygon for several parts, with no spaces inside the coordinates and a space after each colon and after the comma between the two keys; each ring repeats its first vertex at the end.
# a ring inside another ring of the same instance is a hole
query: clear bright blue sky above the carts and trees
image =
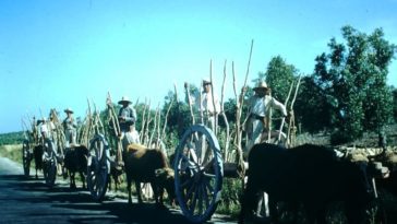
{"type": "MultiPolygon", "coordinates": [[[[155,108],[173,83],[181,94],[183,82],[209,76],[210,60],[218,83],[228,61],[232,97],[231,61],[241,86],[251,39],[250,80],[277,55],[308,74],[344,25],[382,27],[397,44],[396,12],[397,0],[1,0],[0,133],[50,108],[84,117],[87,98],[104,109],[108,91],[155,108]]],[[[389,71],[397,86],[396,61],[389,71]]]]}

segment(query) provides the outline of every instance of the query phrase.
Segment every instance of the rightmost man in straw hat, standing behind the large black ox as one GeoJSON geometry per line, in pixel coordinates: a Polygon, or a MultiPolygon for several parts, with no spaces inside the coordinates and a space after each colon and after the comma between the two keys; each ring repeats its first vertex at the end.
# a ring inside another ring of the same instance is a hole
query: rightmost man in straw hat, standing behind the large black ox
{"type": "MultiPolygon", "coordinates": [[[[270,89],[266,82],[261,81],[253,89],[255,94],[248,101],[249,119],[246,123],[248,145],[246,154],[254,144],[261,143],[262,134],[268,131],[268,120],[270,109],[279,110],[282,116],[287,116],[286,106],[270,96],[270,89]]],[[[273,135],[275,135],[273,133],[273,135]]],[[[265,134],[266,135],[266,134],[265,134]]]]}

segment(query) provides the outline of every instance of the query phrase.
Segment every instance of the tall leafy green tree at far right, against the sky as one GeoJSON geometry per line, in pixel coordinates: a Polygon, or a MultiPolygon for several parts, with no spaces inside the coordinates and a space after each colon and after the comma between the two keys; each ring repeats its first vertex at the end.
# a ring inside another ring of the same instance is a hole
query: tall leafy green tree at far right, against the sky
{"type": "Polygon", "coordinates": [[[390,121],[393,103],[386,78],[397,48],[384,39],[380,28],[371,35],[351,26],[341,32],[346,44],[332,38],[330,52],[316,58],[312,78],[320,89],[318,99],[326,99],[320,102],[337,130],[334,139],[351,141],[364,130],[380,131],[390,121]]]}

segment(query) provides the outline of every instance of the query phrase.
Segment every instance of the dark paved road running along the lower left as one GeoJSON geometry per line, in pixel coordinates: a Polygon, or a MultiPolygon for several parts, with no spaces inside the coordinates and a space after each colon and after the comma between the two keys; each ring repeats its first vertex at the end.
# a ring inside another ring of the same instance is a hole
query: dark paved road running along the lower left
{"type": "MultiPolygon", "coordinates": [[[[72,191],[64,181],[49,189],[44,179],[23,177],[22,167],[0,157],[0,223],[188,223],[178,210],[154,204],[129,205],[111,194],[93,202],[86,191],[72,191]]],[[[210,223],[236,223],[215,216],[210,223]]]]}

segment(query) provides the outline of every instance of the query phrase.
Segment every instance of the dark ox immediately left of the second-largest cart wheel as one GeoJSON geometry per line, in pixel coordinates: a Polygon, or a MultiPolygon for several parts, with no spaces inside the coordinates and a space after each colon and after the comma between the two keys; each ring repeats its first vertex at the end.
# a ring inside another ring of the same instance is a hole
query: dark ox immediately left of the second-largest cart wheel
{"type": "Polygon", "coordinates": [[[75,173],[80,173],[83,181],[83,189],[85,189],[85,177],[87,173],[87,157],[88,149],[84,145],[67,148],[64,150],[64,167],[69,173],[70,188],[75,189],[75,173]]]}

